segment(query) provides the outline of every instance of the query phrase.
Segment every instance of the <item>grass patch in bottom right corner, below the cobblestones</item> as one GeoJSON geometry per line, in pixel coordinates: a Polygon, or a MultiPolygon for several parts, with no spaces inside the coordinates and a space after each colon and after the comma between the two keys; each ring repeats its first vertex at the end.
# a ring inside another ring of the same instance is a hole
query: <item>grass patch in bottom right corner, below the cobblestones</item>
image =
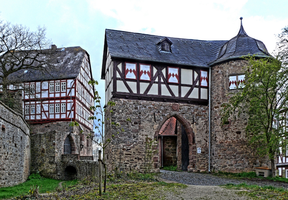
{"type": "Polygon", "coordinates": [[[258,199],[282,199],[288,200],[288,191],[284,188],[277,188],[274,186],[258,186],[247,185],[246,183],[240,184],[226,184],[227,189],[245,189],[245,191],[238,192],[239,195],[246,195],[252,197],[253,200],[258,199]]]}

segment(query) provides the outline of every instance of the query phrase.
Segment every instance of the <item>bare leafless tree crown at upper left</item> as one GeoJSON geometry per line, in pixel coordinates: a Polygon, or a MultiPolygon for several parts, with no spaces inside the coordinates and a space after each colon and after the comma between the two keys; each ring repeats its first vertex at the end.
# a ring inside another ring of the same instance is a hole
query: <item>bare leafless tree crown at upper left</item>
{"type": "Polygon", "coordinates": [[[0,20],[1,101],[6,104],[11,101],[10,85],[23,89],[21,75],[25,70],[46,74],[53,70],[56,48],[50,47],[51,40],[46,38],[44,26],[30,31],[26,26],[0,20]]]}

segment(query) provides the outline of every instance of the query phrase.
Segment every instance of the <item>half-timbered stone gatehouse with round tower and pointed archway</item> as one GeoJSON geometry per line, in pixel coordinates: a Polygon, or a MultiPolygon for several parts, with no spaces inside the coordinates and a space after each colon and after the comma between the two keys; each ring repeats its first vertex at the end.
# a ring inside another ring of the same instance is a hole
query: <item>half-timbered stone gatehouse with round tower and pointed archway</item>
{"type": "Polygon", "coordinates": [[[245,115],[220,126],[221,103],[244,86],[247,62],[242,56],[270,56],[264,43],[247,35],[240,19],[238,34],[229,41],[106,29],[101,77],[106,105],[114,101],[116,106],[107,109],[113,113],[105,115],[105,134],[115,132],[111,119],[125,130],[107,151],[111,168],[143,170],[146,137],[157,140],[158,153],[152,158],[156,171],[165,165],[230,172],[269,167],[269,159],[254,157],[247,144],[245,115]]]}

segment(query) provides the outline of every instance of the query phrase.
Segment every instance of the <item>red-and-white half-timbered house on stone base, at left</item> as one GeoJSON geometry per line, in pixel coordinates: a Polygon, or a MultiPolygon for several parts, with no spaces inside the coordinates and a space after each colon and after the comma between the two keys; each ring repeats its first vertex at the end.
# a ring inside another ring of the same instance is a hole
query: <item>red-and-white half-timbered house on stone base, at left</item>
{"type": "MultiPolygon", "coordinates": [[[[22,91],[23,116],[31,128],[31,171],[70,179],[71,170],[81,173],[79,166],[71,169],[63,164],[65,156],[93,159],[93,121],[88,119],[94,115],[90,110],[94,105],[94,88],[88,84],[93,79],[90,56],[81,47],[52,48],[52,67],[18,71],[13,77],[22,84],[10,85],[10,89],[22,91]],[[70,122],[78,122],[79,127],[69,126],[70,122]]],[[[81,178],[74,175],[72,178],[81,178]]]]}

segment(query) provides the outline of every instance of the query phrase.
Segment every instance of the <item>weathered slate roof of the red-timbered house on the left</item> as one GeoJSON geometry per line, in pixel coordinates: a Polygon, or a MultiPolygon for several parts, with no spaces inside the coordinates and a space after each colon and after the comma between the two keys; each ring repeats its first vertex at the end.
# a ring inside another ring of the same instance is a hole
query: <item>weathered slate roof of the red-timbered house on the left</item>
{"type": "Polygon", "coordinates": [[[48,68],[47,71],[28,69],[27,73],[24,73],[25,70],[19,70],[12,73],[8,78],[17,78],[20,82],[29,82],[77,77],[86,51],[81,47],[62,48],[56,50],[54,62],[51,64],[54,66],[53,69],[48,68]],[[65,51],[60,51],[62,48],[65,48],[65,51]]]}

